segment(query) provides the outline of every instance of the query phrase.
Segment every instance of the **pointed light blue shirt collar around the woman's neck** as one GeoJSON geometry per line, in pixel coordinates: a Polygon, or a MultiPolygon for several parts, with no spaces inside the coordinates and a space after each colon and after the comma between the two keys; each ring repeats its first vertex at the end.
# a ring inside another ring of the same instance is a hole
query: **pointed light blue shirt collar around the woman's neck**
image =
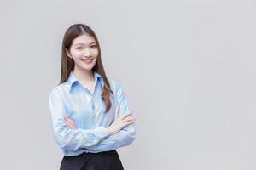
{"type": "MultiPolygon", "coordinates": [[[[94,71],[94,80],[96,82],[99,81],[102,84],[102,87],[104,86],[103,77],[96,71],[94,71]]],[[[75,77],[75,75],[73,74],[73,71],[70,72],[70,74],[67,78],[67,82],[68,82],[68,85],[69,85],[69,92],[71,92],[73,87],[75,87],[75,85],[79,83],[79,80],[78,80],[77,77],[75,77]]],[[[95,82],[95,84],[96,84],[96,82],[95,82]]]]}

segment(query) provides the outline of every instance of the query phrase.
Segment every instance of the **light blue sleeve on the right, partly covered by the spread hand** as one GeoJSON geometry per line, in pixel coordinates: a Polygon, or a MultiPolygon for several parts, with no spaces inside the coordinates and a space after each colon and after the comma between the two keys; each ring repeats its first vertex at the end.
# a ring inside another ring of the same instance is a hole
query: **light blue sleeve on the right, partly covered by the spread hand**
{"type": "MultiPolygon", "coordinates": [[[[117,90],[117,102],[119,104],[119,116],[124,115],[126,112],[129,111],[127,98],[123,91],[123,88],[118,84],[117,90]]],[[[115,105],[114,105],[115,107],[115,105]]],[[[136,137],[136,124],[131,123],[130,125],[124,127],[119,131],[119,133],[115,133],[108,138],[103,139],[98,144],[87,147],[89,150],[96,150],[96,151],[108,151],[108,150],[116,150],[120,147],[124,147],[130,145],[136,137]]]]}

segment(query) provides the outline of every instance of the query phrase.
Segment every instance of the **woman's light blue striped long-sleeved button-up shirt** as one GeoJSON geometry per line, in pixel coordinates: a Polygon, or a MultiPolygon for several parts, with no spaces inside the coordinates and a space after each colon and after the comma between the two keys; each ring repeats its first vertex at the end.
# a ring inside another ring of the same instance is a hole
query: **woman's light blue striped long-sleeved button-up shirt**
{"type": "Polygon", "coordinates": [[[55,142],[64,156],[76,156],[83,152],[116,150],[127,146],[136,137],[136,125],[132,123],[119,133],[109,135],[107,127],[113,122],[115,106],[119,104],[119,116],[129,111],[127,99],[119,82],[110,80],[113,95],[111,108],[106,111],[102,101],[103,78],[94,72],[93,88],[86,88],[73,72],[66,82],[52,88],[49,93],[49,111],[55,142]],[[67,127],[63,118],[72,119],[77,129],[67,127]]]}

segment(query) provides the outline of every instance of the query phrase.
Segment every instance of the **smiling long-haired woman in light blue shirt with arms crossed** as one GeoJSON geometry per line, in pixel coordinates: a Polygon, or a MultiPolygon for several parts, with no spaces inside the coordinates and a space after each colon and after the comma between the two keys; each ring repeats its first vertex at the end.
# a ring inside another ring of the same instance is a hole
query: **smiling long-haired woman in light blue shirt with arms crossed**
{"type": "Polygon", "coordinates": [[[70,26],[61,55],[61,82],[49,93],[61,170],[124,169],[116,149],[135,139],[135,117],[122,86],[108,81],[96,34],[84,24],[70,26]]]}

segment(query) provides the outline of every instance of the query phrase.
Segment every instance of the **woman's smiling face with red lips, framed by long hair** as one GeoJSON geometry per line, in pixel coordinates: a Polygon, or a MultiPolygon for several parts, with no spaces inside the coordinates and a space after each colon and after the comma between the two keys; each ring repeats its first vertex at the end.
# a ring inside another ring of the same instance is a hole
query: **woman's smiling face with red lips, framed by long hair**
{"type": "Polygon", "coordinates": [[[66,54],[73,59],[77,69],[91,71],[96,65],[99,49],[95,38],[85,33],[73,39],[69,50],[66,49],[66,54]]]}

